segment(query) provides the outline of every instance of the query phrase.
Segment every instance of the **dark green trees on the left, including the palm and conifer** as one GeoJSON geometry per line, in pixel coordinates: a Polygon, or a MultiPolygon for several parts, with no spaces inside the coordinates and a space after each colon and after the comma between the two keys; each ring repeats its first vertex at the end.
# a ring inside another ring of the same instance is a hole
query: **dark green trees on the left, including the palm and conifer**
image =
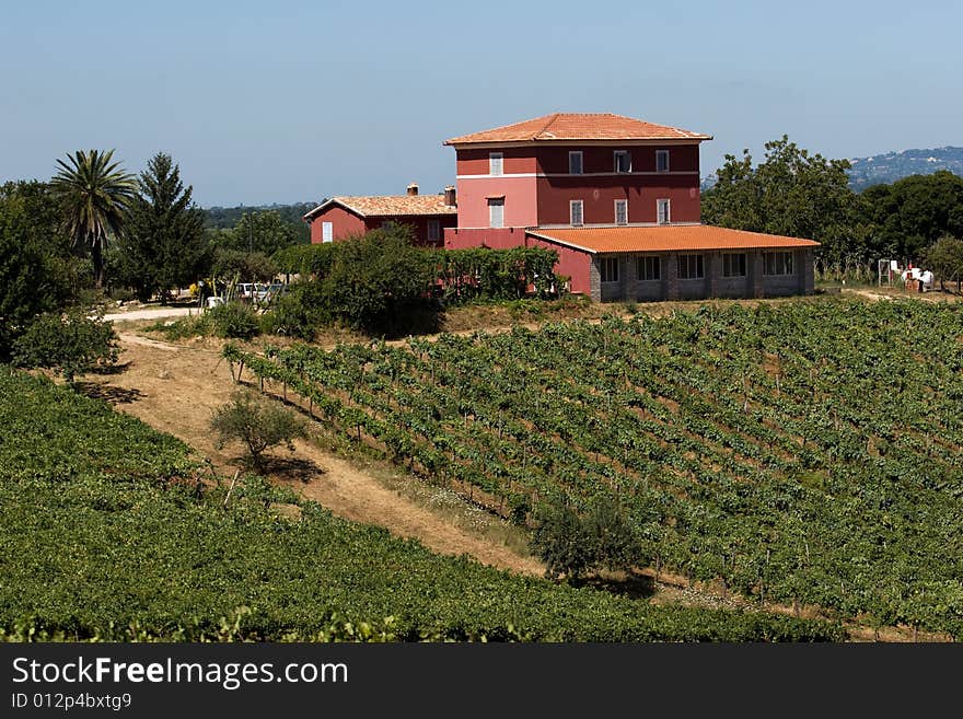
{"type": "Polygon", "coordinates": [[[92,310],[105,294],[147,301],[220,272],[262,279],[268,256],[305,240],[274,210],[206,227],[171,155],[139,175],[114,151],[79,150],[46,182],[0,185],[0,361],[51,367],[68,380],[116,359],[92,310]],[[257,275],[256,277],[253,275],[257,275]]]}

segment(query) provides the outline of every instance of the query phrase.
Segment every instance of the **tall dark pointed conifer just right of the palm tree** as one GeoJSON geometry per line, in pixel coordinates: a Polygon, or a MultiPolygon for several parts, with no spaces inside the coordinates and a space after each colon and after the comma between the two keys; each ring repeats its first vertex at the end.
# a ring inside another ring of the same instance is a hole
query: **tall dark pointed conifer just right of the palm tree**
{"type": "Polygon", "coordinates": [[[166,300],[174,287],[187,287],[206,274],[204,212],[184,187],[171,155],[159,152],[138,179],[121,237],[119,271],[141,301],[155,292],[166,300]]]}

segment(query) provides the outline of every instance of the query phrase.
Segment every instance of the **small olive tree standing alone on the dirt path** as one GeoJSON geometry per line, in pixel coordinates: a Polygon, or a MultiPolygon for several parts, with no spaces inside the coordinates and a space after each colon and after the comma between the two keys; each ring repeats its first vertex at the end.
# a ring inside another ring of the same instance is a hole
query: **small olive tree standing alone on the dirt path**
{"type": "Polygon", "coordinates": [[[294,451],[294,440],[308,437],[308,422],[287,407],[241,390],[231,402],[214,410],[211,429],[218,433],[218,449],[240,441],[247,449],[252,465],[263,471],[264,452],[278,444],[294,451]]]}

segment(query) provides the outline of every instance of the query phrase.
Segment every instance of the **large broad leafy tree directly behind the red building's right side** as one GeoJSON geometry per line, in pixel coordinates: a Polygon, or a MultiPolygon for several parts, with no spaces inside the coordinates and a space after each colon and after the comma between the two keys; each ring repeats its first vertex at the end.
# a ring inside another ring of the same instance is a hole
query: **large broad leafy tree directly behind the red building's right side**
{"type": "Polygon", "coordinates": [[[805,237],[822,243],[824,259],[856,250],[848,160],[810,154],[784,135],[765,146],[765,161],[753,166],[749,150],[742,159],[726,155],[716,184],[703,195],[703,220],[752,232],[805,237]]]}

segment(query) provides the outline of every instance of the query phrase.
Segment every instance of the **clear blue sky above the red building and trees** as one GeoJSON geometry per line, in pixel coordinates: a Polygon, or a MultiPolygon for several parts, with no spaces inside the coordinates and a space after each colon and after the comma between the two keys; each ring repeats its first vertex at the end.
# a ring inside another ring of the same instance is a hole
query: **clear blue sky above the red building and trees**
{"type": "Polygon", "coordinates": [[[422,193],[449,137],[552,112],[787,134],[829,158],[963,146],[963,3],[4,3],[0,182],[173,155],[205,206],[422,193]]]}

